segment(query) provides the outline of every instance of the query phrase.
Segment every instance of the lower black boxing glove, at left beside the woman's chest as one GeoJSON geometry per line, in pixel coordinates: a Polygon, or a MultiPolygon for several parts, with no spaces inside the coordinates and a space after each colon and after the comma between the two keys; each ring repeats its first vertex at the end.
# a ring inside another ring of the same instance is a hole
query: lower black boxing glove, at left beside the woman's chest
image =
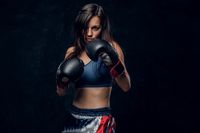
{"type": "Polygon", "coordinates": [[[83,73],[84,63],[74,57],[61,62],[56,72],[56,83],[59,88],[65,88],[69,82],[76,82],[83,73]]]}

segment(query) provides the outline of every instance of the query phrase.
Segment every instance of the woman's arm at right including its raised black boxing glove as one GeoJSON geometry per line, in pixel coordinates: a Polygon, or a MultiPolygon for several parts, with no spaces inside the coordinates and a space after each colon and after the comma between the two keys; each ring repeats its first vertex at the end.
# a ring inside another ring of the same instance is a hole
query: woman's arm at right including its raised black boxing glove
{"type": "Polygon", "coordinates": [[[95,39],[86,45],[86,53],[91,60],[97,61],[98,57],[102,59],[123,91],[130,89],[130,77],[124,64],[124,55],[117,43],[110,44],[105,40],[95,39]]]}

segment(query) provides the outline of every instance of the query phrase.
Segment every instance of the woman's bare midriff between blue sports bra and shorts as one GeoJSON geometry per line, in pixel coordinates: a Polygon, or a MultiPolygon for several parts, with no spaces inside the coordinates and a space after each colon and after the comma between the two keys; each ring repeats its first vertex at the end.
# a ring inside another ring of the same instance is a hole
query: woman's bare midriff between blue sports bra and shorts
{"type": "Polygon", "coordinates": [[[78,88],[73,105],[83,109],[110,107],[111,87],[84,87],[78,88]]]}

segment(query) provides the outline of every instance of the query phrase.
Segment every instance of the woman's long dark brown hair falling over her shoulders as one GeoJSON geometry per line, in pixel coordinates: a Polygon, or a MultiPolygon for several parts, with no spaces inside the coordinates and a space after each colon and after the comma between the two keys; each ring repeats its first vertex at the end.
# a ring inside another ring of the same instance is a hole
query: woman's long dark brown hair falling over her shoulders
{"type": "Polygon", "coordinates": [[[68,58],[78,56],[85,49],[85,41],[83,32],[86,30],[88,22],[94,16],[98,16],[101,20],[102,31],[100,39],[112,42],[113,38],[110,30],[110,21],[108,16],[105,14],[102,6],[95,3],[86,4],[81,8],[76,16],[74,22],[74,50],[69,54],[68,58]]]}

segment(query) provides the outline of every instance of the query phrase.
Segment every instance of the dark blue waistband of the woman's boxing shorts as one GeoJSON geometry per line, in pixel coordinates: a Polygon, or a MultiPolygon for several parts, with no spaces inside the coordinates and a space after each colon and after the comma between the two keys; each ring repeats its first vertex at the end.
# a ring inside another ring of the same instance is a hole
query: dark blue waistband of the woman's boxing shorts
{"type": "Polygon", "coordinates": [[[83,115],[83,116],[103,116],[103,115],[110,115],[111,108],[103,107],[97,109],[82,109],[74,105],[71,105],[69,112],[75,115],[83,115]]]}

